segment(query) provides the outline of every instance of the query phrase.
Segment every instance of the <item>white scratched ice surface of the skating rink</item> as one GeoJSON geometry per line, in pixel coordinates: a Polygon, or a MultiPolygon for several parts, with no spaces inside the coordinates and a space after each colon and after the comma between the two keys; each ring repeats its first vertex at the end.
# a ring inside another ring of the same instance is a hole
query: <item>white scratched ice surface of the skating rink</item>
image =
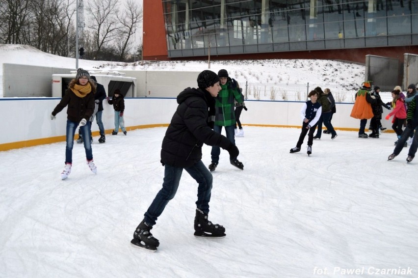
{"type": "Polygon", "coordinates": [[[418,159],[404,149],[387,161],[394,134],[324,134],[308,157],[306,143],[289,154],[299,129],[244,130],[244,170],[222,151],[213,172],[209,219],[227,236],[193,236],[197,185],[184,172],[152,230],[155,253],[130,240],[162,184],[165,128],[94,138],[97,175],[76,144],[65,181],[65,142],[0,152],[0,277],[418,277],[418,159]]]}

